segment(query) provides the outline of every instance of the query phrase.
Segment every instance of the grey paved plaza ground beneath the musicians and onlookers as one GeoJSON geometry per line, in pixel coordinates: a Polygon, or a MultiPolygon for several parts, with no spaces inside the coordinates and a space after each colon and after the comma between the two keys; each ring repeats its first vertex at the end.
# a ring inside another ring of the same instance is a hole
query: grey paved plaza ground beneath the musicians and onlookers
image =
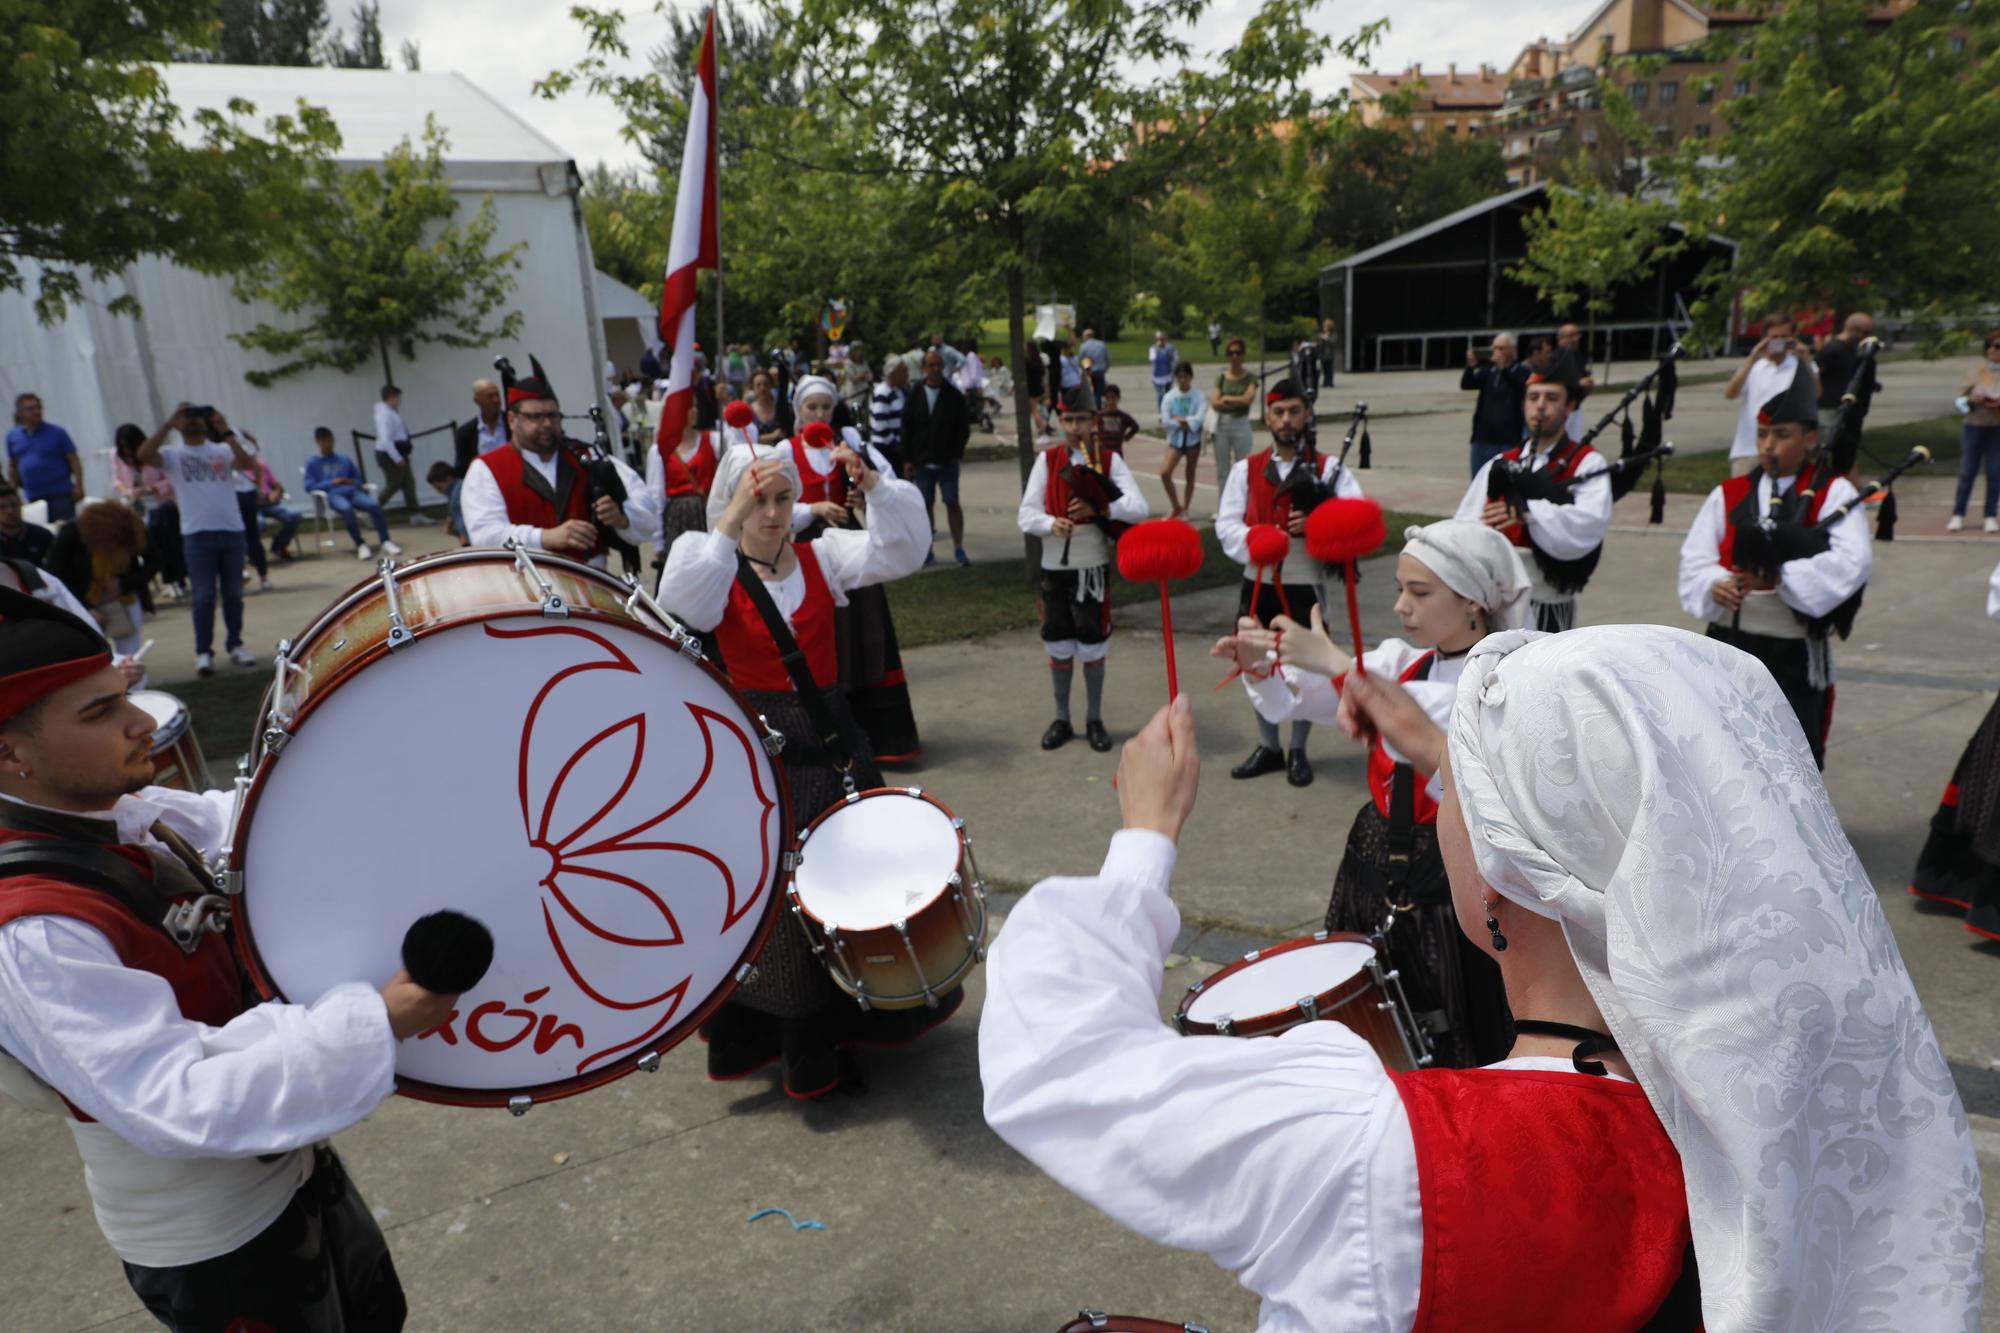
{"type": "MultiPolygon", "coordinates": [[[[1716,370],[1724,366],[1698,366],[1716,370]]],[[[1876,422],[1950,410],[1960,362],[1884,366],[1876,422]]],[[[1150,424],[1142,370],[1118,372],[1150,424]]],[[[1448,512],[1464,486],[1470,394],[1456,374],[1354,376],[1322,396],[1322,412],[1366,398],[1374,426],[1372,494],[1412,512],[1448,512]]],[[[1734,404],[1720,384],[1682,390],[1668,428],[1684,448],[1726,442],[1734,404]]],[[[1140,472],[1158,444],[1132,450],[1140,472]]],[[[1208,476],[1212,482],[1212,476],[1208,476]]],[[[1158,482],[1146,482],[1160,506],[1158,482]]],[[[966,504],[974,558],[1020,552],[1012,462],[970,466],[966,504]]],[[[2000,538],[1942,534],[1948,478],[1904,486],[1902,530],[1876,546],[1876,574],[1852,640],[1836,648],[1838,709],[1826,781],[1868,867],[1918,991],[1972,1111],[1986,1173],[1988,1277],[2000,1287],[2000,947],[1976,943],[1952,917],[1906,895],[1926,821],[1966,737],[2000,683],[2000,626],[1984,588],[2000,538]]],[[[1688,624],[1674,602],[1674,562],[1698,496],[1672,496],[1662,528],[1644,496],[1620,506],[1582,620],[1688,624]]],[[[1214,508],[1206,488],[1196,512],[1214,508]]],[[[1976,526],[1976,524],[1974,524],[1976,526]]],[[[436,548],[436,528],[406,536],[436,548]]],[[[296,632],[364,568],[344,554],[278,574],[250,598],[252,648],[296,632]]],[[[948,554],[948,552],[946,552],[948,554]]],[[[938,568],[924,578],[952,578],[938,568]]],[[[1394,632],[1386,562],[1366,568],[1370,638],[1394,632]]],[[[1024,594],[1026,596],[1026,594],[1024,594]]],[[[1318,781],[1232,783],[1252,745],[1250,707],[1206,642],[1228,626],[1234,592],[1176,604],[1180,673],[1198,721],[1202,803],[1182,841],[1176,895],[1188,921],[1162,1011],[1234,953],[1314,925],[1340,847],[1366,801],[1362,755],[1316,733],[1318,781]]],[[[1112,648],[1108,723],[1120,739],[1164,701],[1158,608],[1132,592],[1112,648]]],[[[158,681],[186,675],[186,612],[156,624],[158,681]]],[[[966,817],[980,865],[1004,909],[1044,875],[1096,867],[1118,825],[1116,753],[1074,743],[1042,755],[1050,717],[1046,660],[1032,630],[906,652],[924,733],[910,783],[966,817]]],[[[200,719],[196,719],[200,727],[200,719]]],[[[204,735],[212,755],[232,741],[204,735]]],[[[240,743],[236,745],[240,749],[240,743]]],[[[450,783],[448,755],[384,755],[370,781],[412,793],[450,783]]],[[[330,793],[330,803],[342,793],[330,793]]],[[[1056,1329],[1082,1305],[1248,1329],[1256,1303],[1206,1257],[1154,1247],[1070,1199],[984,1127],[976,1067],[982,977],[964,1011],[916,1049],[866,1059],[868,1091],[794,1107],[758,1075],[740,1085],[702,1077],[700,1047],[522,1119],[392,1099],[340,1137],[374,1203],[412,1301],[414,1329],[1056,1329]],[[786,1207],[826,1231],[782,1219],[786,1207]]],[[[1172,1153],[1172,1145],[1162,1145],[1172,1153]]],[[[0,1105],[0,1325],[10,1329],[152,1327],[104,1247],[66,1129],[0,1105]]],[[[2000,1311],[1988,1315],[2000,1327],[2000,1311]]]]}

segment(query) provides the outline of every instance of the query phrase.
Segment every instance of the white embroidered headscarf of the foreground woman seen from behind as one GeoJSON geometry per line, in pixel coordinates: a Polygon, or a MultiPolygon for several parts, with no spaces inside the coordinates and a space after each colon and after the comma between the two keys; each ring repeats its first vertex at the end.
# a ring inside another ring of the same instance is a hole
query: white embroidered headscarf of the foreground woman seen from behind
{"type": "Polygon", "coordinates": [[[1762,662],[1662,626],[1492,634],[1450,759],[1480,875],[1562,923],[1680,1151],[1708,1327],[1976,1329],[1966,1113],[1762,662]]]}

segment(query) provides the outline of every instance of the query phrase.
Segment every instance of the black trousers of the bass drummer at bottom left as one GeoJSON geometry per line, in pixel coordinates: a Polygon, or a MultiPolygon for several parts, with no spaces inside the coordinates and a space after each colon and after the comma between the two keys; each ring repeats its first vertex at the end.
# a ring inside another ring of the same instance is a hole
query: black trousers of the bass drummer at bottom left
{"type": "Polygon", "coordinates": [[[326,1145],[314,1149],[312,1179],[242,1249],[174,1269],[124,1269],[174,1333],[396,1333],[408,1315],[388,1241],[326,1145]]]}

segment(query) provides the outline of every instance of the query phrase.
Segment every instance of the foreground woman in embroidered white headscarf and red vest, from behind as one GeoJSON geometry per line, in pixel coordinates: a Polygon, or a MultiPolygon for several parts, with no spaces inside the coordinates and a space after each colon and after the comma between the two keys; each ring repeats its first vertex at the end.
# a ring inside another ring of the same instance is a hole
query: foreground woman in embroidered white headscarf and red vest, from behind
{"type": "Polygon", "coordinates": [[[1660,626],[1510,630],[1472,650],[1448,733],[1376,677],[1342,715],[1444,775],[1510,1057],[1390,1073],[1340,1023],[1160,1025],[1200,781],[1176,701],[1126,747],[1102,873],[1044,881],[994,941],[1002,1139],[1212,1255],[1272,1331],[1980,1325],[1970,1127],[1762,664],[1660,626]]]}

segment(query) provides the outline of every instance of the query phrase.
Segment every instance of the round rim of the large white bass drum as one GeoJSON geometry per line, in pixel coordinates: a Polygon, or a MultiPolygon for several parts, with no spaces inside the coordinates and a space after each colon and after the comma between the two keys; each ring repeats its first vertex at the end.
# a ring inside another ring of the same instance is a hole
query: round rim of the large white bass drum
{"type": "MultiPolygon", "coordinates": [[[[418,562],[438,562],[438,564],[444,564],[444,562],[492,562],[496,558],[498,560],[506,560],[506,562],[514,560],[512,552],[508,552],[502,546],[470,546],[470,548],[460,548],[460,550],[442,550],[442,552],[436,552],[432,556],[418,556],[416,560],[410,560],[410,564],[418,564],[418,562]]],[[[560,562],[560,564],[570,566],[570,568],[584,568],[584,570],[590,570],[592,576],[596,576],[600,580],[608,580],[612,586],[620,586],[610,574],[606,574],[604,570],[594,568],[590,564],[580,564],[576,560],[566,560],[566,558],[560,558],[560,556],[548,556],[548,560],[540,560],[540,558],[536,560],[536,564],[544,564],[544,562],[560,562]]],[[[406,568],[406,566],[398,566],[398,568],[406,568]]],[[[342,610],[342,608],[346,608],[356,594],[364,592],[366,588],[378,588],[378,586],[380,586],[380,580],[378,578],[370,578],[370,580],[362,580],[362,582],[354,584],[352,588],[348,588],[348,592],[344,592],[332,606],[328,606],[324,612],[320,612],[320,616],[308,626],[306,636],[300,638],[300,640],[296,640],[296,646],[304,646],[304,644],[312,642],[314,634],[324,624],[328,624],[330,620],[334,620],[336,612],[342,610]]],[[[514,610],[476,612],[476,614],[466,614],[466,616],[454,616],[454,618],[448,618],[448,620],[438,620],[434,624],[424,626],[424,636],[428,638],[434,632],[442,632],[442,630],[448,630],[448,628],[462,628],[466,624],[492,622],[492,620],[516,620],[516,618],[546,620],[546,616],[542,616],[540,610],[534,610],[534,608],[528,608],[528,606],[520,606],[520,608],[514,608],[514,610]]],[[[752,729],[750,729],[752,735],[760,737],[760,733],[762,733],[762,715],[754,707],[750,707],[750,701],[744,699],[742,691],[738,691],[736,685],[726,675],[722,675],[722,671],[716,669],[716,664],[710,662],[706,656],[694,656],[682,644],[676,644],[672,638],[668,638],[660,628],[656,628],[654,624],[650,624],[648,620],[642,620],[638,616],[610,616],[610,614],[604,614],[602,610],[596,610],[592,606],[570,606],[570,614],[566,616],[566,622],[576,622],[576,620],[588,620],[588,622],[598,622],[598,624],[616,624],[616,626],[638,630],[642,634],[658,638],[666,648],[674,650],[674,654],[678,654],[682,660],[692,662],[696,669],[704,671],[716,685],[720,685],[722,691],[736,703],[736,707],[742,709],[742,717],[746,721],[754,723],[752,729]]],[[[372,644],[364,654],[356,656],[356,660],[350,662],[348,666],[344,666],[342,671],[336,671],[326,681],[326,685],[322,689],[314,689],[314,693],[312,693],[310,699],[316,701],[316,699],[328,699],[328,697],[332,697],[334,691],[338,691],[342,685],[346,685],[350,679],[354,679],[362,671],[362,666],[368,666],[368,664],[376,662],[382,656],[388,656],[388,640],[386,638],[380,644],[372,644]]],[[[304,725],[304,721],[306,721],[306,717],[310,713],[312,713],[312,707],[310,707],[310,701],[308,701],[308,707],[300,709],[298,717],[292,719],[292,731],[294,733],[304,725]]],[[[264,735],[264,721],[268,717],[270,717],[270,687],[266,687],[266,691],[264,691],[264,703],[258,707],[258,717],[256,717],[256,735],[258,737],[264,735]]],[[[792,827],[792,787],[786,781],[784,761],[778,755],[772,755],[770,751],[764,751],[764,757],[770,763],[772,785],[776,787],[778,819],[780,819],[778,827],[780,829],[790,829],[792,827]]],[[[272,755],[270,751],[266,751],[262,747],[256,749],[256,769],[250,775],[250,787],[244,791],[242,815],[236,819],[236,837],[230,843],[230,869],[236,871],[236,873],[244,871],[244,851],[248,849],[250,827],[252,827],[252,819],[256,815],[256,805],[262,799],[264,787],[270,781],[270,773],[272,773],[272,769],[276,767],[276,763],[280,759],[282,759],[282,755],[272,755]]],[[[714,1015],[714,1011],[720,1009],[730,999],[730,995],[736,993],[736,985],[738,985],[736,977],[738,977],[738,973],[744,969],[746,963],[754,963],[756,957],[764,951],[764,945],[770,941],[770,933],[778,925],[778,917],[780,917],[782,905],[788,901],[788,893],[786,891],[790,889],[790,879],[792,879],[792,871],[788,867],[788,857],[786,857],[788,849],[790,849],[790,843],[786,839],[778,839],[776,855],[772,857],[770,883],[764,885],[764,891],[766,891],[764,907],[758,909],[756,929],[750,933],[750,939],[744,945],[744,951],[730,965],[730,969],[726,973],[726,981],[720,987],[716,987],[714,995],[710,995],[704,1003],[688,1009],[686,1015],[680,1017],[680,1019],[676,1019],[666,1031],[658,1033],[652,1041],[640,1043],[640,1045],[646,1047],[646,1051],[622,1053],[618,1059],[606,1061],[604,1065],[600,1065],[598,1069],[592,1069],[590,1073],[580,1073],[580,1075],[572,1075],[568,1079],[558,1079],[556,1083],[536,1083],[536,1085],[526,1085],[526,1087],[464,1089],[464,1087],[454,1087],[454,1085],[448,1085],[448,1083],[428,1083],[424,1079],[412,1079],[412,1077],[406,1077],[406,1075],[398,1073],[398,1075],[394,1075],[394,1079],[396,1079],[396,1093],[402,1095],[402,1097],[410,1097],[412,1101],[428,1101],[428,1103],[436,1103],[436,1105],[444,1105],[444,1107],[508,1107],[508,1109],[512,1109],[514,1105],[518,1105],[520,1097],[526,1097],[528,1105],[542,1105],[542,1103],[550,1103],[550,1101],[562,1101],[564,1097],[576,1097],[578,1093],[588,1093],[590,1089],[596,1089],[596,1087],[604,1087],[606,1083],[622,1079],[622,1077],[634,1073],[636,1069],[640,1069],[640,1059],[644,1055],[652,1055],[652,1053],[664,1055],[664,1053],[672,1051],[674,1047],[678,1047],[680,1043],[684,1043],[688,1039],[688,1035],[694,1033],[696,1027],[700,1027],[702,1023],[706,1023],[714,1015]]],[[[248,897],[242,895],[242,893],[236,895],[236,919],[234,919],[234,925],[230,927],[230,937],[236,941],[236,959],[242,963],[242,969],[250,977],[250,985],[256,987],[256,993],[262,999],[266,999],[266,1001],[274,999],[274,1001],[290,1003],[286,999],[286,995],[278,989],[278,985],[272,981],[268,969],[264,967],[262,955],[258,955],[256,937],[254,937],[254,931],[250,927],[250,903],[248,903],[248,897]]]]}

